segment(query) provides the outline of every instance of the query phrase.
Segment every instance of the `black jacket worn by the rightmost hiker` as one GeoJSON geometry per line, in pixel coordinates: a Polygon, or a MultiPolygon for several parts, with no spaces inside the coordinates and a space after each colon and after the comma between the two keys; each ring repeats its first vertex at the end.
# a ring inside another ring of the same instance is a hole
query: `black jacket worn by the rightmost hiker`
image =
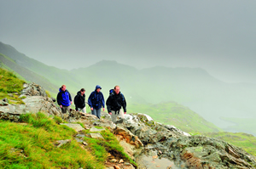
{"type": "Polygon", "coordinates": [[[124,112],[126,112],[126,101],[125,96],[119,92],[119,94],[116,94],[115,92],[109,94],[107,99],[107,109],[108,113],[113,111],[118,111],[123,107],[124,112]]]}

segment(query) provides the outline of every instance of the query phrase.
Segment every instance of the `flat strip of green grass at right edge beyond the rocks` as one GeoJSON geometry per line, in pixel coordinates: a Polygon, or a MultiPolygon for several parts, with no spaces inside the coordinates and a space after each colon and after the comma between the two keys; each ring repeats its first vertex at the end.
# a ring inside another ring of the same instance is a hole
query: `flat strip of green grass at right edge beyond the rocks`
{"type": "Polygon", "coordinates": [[[196,134],[224,140],[225,142],[236,145],[237,147],[246,150],[247,153],[256,156],[256,137],[251,134],[243,132],[207,132],[196,134]]]}

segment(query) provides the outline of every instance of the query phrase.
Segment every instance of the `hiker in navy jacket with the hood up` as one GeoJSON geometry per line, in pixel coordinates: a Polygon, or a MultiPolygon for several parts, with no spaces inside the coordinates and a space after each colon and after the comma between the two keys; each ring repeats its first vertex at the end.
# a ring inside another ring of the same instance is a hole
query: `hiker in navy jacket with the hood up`
{"type": "Polygon", "coordinates": [[[103,111],[105,111],[105,100],[101,89],[102,87],[96,85],[95,91],[90,93],[90,96],[88,98],[88,104],[90,105],[91,114],[96,115],[99,119],[101,119],[102,107],[103,111]]]}

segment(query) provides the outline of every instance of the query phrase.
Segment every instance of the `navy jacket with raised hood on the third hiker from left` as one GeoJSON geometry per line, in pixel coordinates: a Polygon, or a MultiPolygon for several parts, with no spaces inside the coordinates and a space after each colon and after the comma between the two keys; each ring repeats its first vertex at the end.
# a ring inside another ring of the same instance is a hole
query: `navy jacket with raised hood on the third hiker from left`
{"type": "MultiPolygon", "coordinates": [[[[97,85],[96,89],[98,88],[102,88],[102,87],[97,85]]],[[[90,93],[90,96],[88,98],[88,104],[90,105],[91,108],[98,110],[98,109],[101,109],[102,107],[105,108],[105,100],[102,92],[97,93],[96,89],[95,91],[90,93]]]]}

